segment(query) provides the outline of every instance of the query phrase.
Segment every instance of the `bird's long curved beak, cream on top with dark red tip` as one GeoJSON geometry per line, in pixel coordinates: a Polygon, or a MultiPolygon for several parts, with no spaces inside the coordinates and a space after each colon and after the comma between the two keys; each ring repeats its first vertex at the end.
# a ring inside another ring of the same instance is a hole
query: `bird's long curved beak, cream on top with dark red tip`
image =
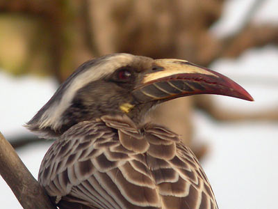
{"type": "Polygon", "coordinates": [[[172,100],[195,94],[226,95],[253,101],[243,87],[218,72],[179,59],[154,60],[133,95],[139,102],[172,100]]]}

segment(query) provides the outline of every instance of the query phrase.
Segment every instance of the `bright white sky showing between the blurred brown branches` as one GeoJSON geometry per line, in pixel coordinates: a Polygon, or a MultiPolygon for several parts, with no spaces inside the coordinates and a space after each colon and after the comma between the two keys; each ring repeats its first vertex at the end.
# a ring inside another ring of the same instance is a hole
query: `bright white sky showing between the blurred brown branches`
{"type": "MultiPolygon", "coordinates": [[[[222,20],[213,26],[215,36],[236,30],[254,0],[229,0],[222,20]]],[[[266,0],[254,22],[278,24],[278,1],[266,0]]],[[[260,111],[278,106],[278,48],[251,49],[237,60],[221,60],[211,68],[244,86],[255,102],[213,96],[219,107],[231,111],[260,111]]],[[[0,128],[5,137],[26,133],[26,123],[56,90],[53,79],[10,77],[0,71],[0,128]],[[18,102],[19,101],[19,102],[18,102]],[[28,103],[27,103],[28,101],[28,103]],[[3,119],[4,118],[4,119],[3,119]]],[[[195,137],[209,145],[202,165],[211,181],[219,208],[277,208],[278,199],[278,121],[220,123],[196,111],[195,137]]],[[[36,144],[18,151],[37,178],[48,146],[36,144]]],[[[0,177],[1,208],[22,208],[0,177]]]]}

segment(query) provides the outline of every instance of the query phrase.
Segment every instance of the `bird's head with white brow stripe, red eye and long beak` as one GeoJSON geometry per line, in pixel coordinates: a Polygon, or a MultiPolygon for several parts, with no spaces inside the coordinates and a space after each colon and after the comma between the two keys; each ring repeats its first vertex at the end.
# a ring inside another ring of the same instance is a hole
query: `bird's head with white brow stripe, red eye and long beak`
{"type": "Polygon", "coordinates": [[[188,61],[111,54],[77,68],[26,127],[55,138],[104,115],[126,114],[140,123],[156,104],[194,94],[253,100],[231,79],[188,61]]]}

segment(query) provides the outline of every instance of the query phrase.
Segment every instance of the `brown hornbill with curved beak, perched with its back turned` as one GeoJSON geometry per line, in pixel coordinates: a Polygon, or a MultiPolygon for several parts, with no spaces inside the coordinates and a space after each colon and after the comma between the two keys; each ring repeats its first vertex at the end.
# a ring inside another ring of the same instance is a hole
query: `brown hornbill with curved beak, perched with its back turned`
{"type": "Polygon", "coordinates": [[[146,121],[158,104],[195,94],[253,100],[228,77],[180,59],[117,53],[83,63],[26,123],[55,139],[40,185],[60,209],[218,208],[179,134],[146,121]]]}

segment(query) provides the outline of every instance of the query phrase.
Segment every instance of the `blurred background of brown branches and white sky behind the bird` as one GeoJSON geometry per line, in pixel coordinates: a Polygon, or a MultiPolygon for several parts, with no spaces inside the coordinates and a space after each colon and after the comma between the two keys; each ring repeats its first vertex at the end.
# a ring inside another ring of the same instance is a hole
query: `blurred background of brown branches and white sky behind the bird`
{"type": "MultiPolygon", "coordinates": [[[[84,61],[114,52],[186,59],[255,102],[202,95],[152,113],[179,132],[219,208],[277,208],[277,0],[0,0],[0,131],[37,178],[51,141],[22,125],[84,61]]],[[[1,208],[22,208],[0,178],[1,208]]]]}

